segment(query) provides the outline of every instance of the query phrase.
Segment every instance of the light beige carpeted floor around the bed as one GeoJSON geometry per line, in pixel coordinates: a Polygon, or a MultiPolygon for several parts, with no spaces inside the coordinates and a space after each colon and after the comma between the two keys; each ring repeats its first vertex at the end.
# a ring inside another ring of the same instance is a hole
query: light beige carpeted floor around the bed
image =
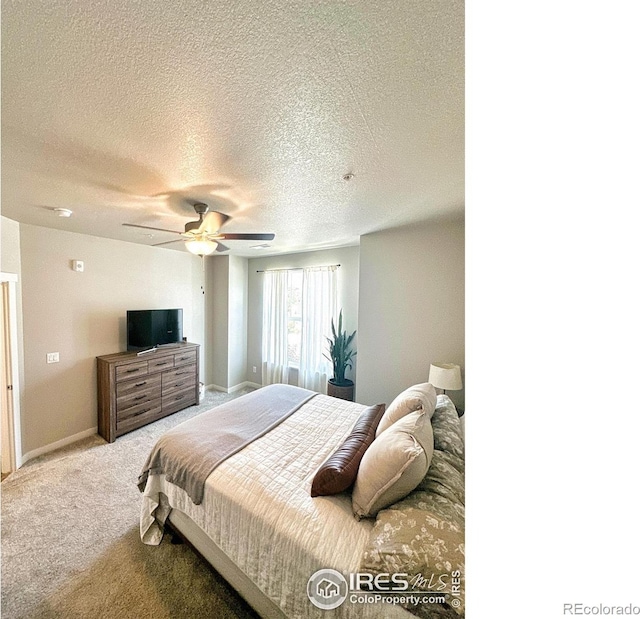
{"type": "Polygon", "coordinates": [[[257,617],[186,544],[145,546],[138,533],[136,480],[156,439],[247,391],[207,392],[115,443],[91,437],[5,479],[3,619],[257,617]]]}

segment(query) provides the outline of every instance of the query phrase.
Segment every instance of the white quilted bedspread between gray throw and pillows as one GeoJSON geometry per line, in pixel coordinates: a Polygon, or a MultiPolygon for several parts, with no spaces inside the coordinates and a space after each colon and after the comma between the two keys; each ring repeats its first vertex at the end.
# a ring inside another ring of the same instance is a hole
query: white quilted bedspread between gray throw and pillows
{"type": "MultiPolygon", "coordinates": [[[[357,572],[372,520],[357,521],[348,494],[311,498],[318,467],[346,438],[364,406],[318,395],[291,417],[235,454],[209,476],[201,505],[168,483],[149,477],[140,529],[159,544],[154,519],[160,493],[187,514],[288,617],[412,617],[400,607],[351,604],[313,606],[307,581],[317,570],[357,572]]],[[[168,510],[160,510],[162,521],[168,510]]]]}

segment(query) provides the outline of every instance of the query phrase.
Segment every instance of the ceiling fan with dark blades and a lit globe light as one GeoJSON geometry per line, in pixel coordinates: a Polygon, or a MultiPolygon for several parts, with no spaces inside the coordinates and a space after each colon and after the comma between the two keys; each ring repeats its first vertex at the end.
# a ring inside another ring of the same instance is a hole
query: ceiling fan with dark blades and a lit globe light
{"type": "Polygon", "coordinates": [[[187,249],[192,254],[198,256],[209,256],[213,252],[228,251],[229,248],[220,243],[221,240],[227,241],[272,241],[275,238],[275,234],[241,234],[241,233],[227,233],[220,232],[220,228],[231,217],[220,213],[219,211],[210,211],[209,207],[203,202],[196,202],[193,205],[199,219],[197,221],[189,221],[185,224],[184,232],[177,232],[176,230],[166,230],[165,228],[153,228],[151,226],[141,226],[138,224],[122,224],[130,228],[143,228],[145,230],[158,230],[160,232],[173,232],[184,237],[182,239],[175,239],[174,241],[165,241],[164,243],[154,243],[154,247],[161,245],[169,245],[170,243],[177,243],[184,241],[187,249]]]}

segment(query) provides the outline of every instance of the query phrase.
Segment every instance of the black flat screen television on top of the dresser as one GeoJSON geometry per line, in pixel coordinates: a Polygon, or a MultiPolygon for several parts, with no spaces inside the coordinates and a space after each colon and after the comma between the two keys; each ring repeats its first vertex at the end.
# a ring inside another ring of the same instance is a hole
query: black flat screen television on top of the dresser
{"type": "Polygon", "coordinates": [[[182,309],[127,312],[127,350],[143,350],[181,341],[182,309]]]}

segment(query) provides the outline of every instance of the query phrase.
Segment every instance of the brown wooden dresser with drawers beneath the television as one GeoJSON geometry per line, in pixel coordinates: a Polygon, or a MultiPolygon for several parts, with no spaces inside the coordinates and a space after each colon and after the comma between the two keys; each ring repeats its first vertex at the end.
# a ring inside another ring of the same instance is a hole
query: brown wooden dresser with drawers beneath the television
{"type": "Polygon", "coordinates": [[[98,357],[98,432],[110,443],[200,403],[200,346],[184,342],[139,355],[98,357]]]}

